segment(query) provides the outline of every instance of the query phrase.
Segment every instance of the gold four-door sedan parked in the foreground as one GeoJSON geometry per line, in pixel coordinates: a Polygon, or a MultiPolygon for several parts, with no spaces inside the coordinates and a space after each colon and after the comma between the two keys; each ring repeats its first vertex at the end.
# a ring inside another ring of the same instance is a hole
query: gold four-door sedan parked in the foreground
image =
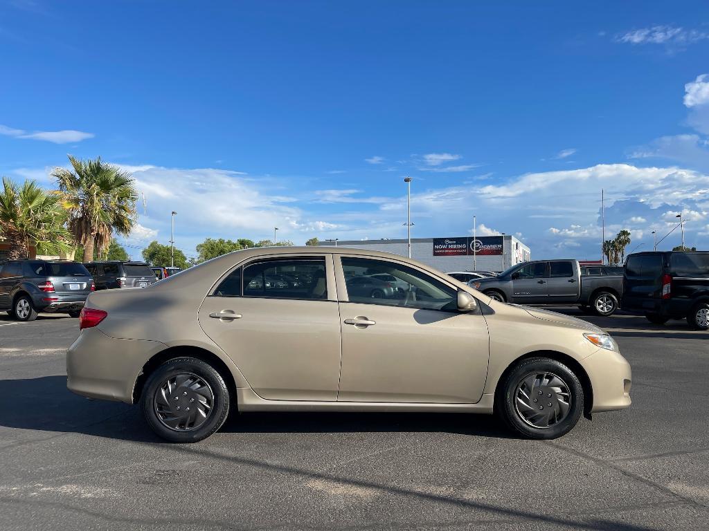
{"type": "Polygon", "coordinates": [[[69,389],[140,403],[175,442],[208,437],[230,409],[495,411],[518,435],[550,439],[582,414],[630,406],[630,365],[593,324],[362,249],[236,251],[144,290],[93,293],[80,329],[69,389]],[[312,282],[248,287],[277,270],[312,282]],[[365,272],[415,290],[372,298],[352,284],[365,272]]]}

